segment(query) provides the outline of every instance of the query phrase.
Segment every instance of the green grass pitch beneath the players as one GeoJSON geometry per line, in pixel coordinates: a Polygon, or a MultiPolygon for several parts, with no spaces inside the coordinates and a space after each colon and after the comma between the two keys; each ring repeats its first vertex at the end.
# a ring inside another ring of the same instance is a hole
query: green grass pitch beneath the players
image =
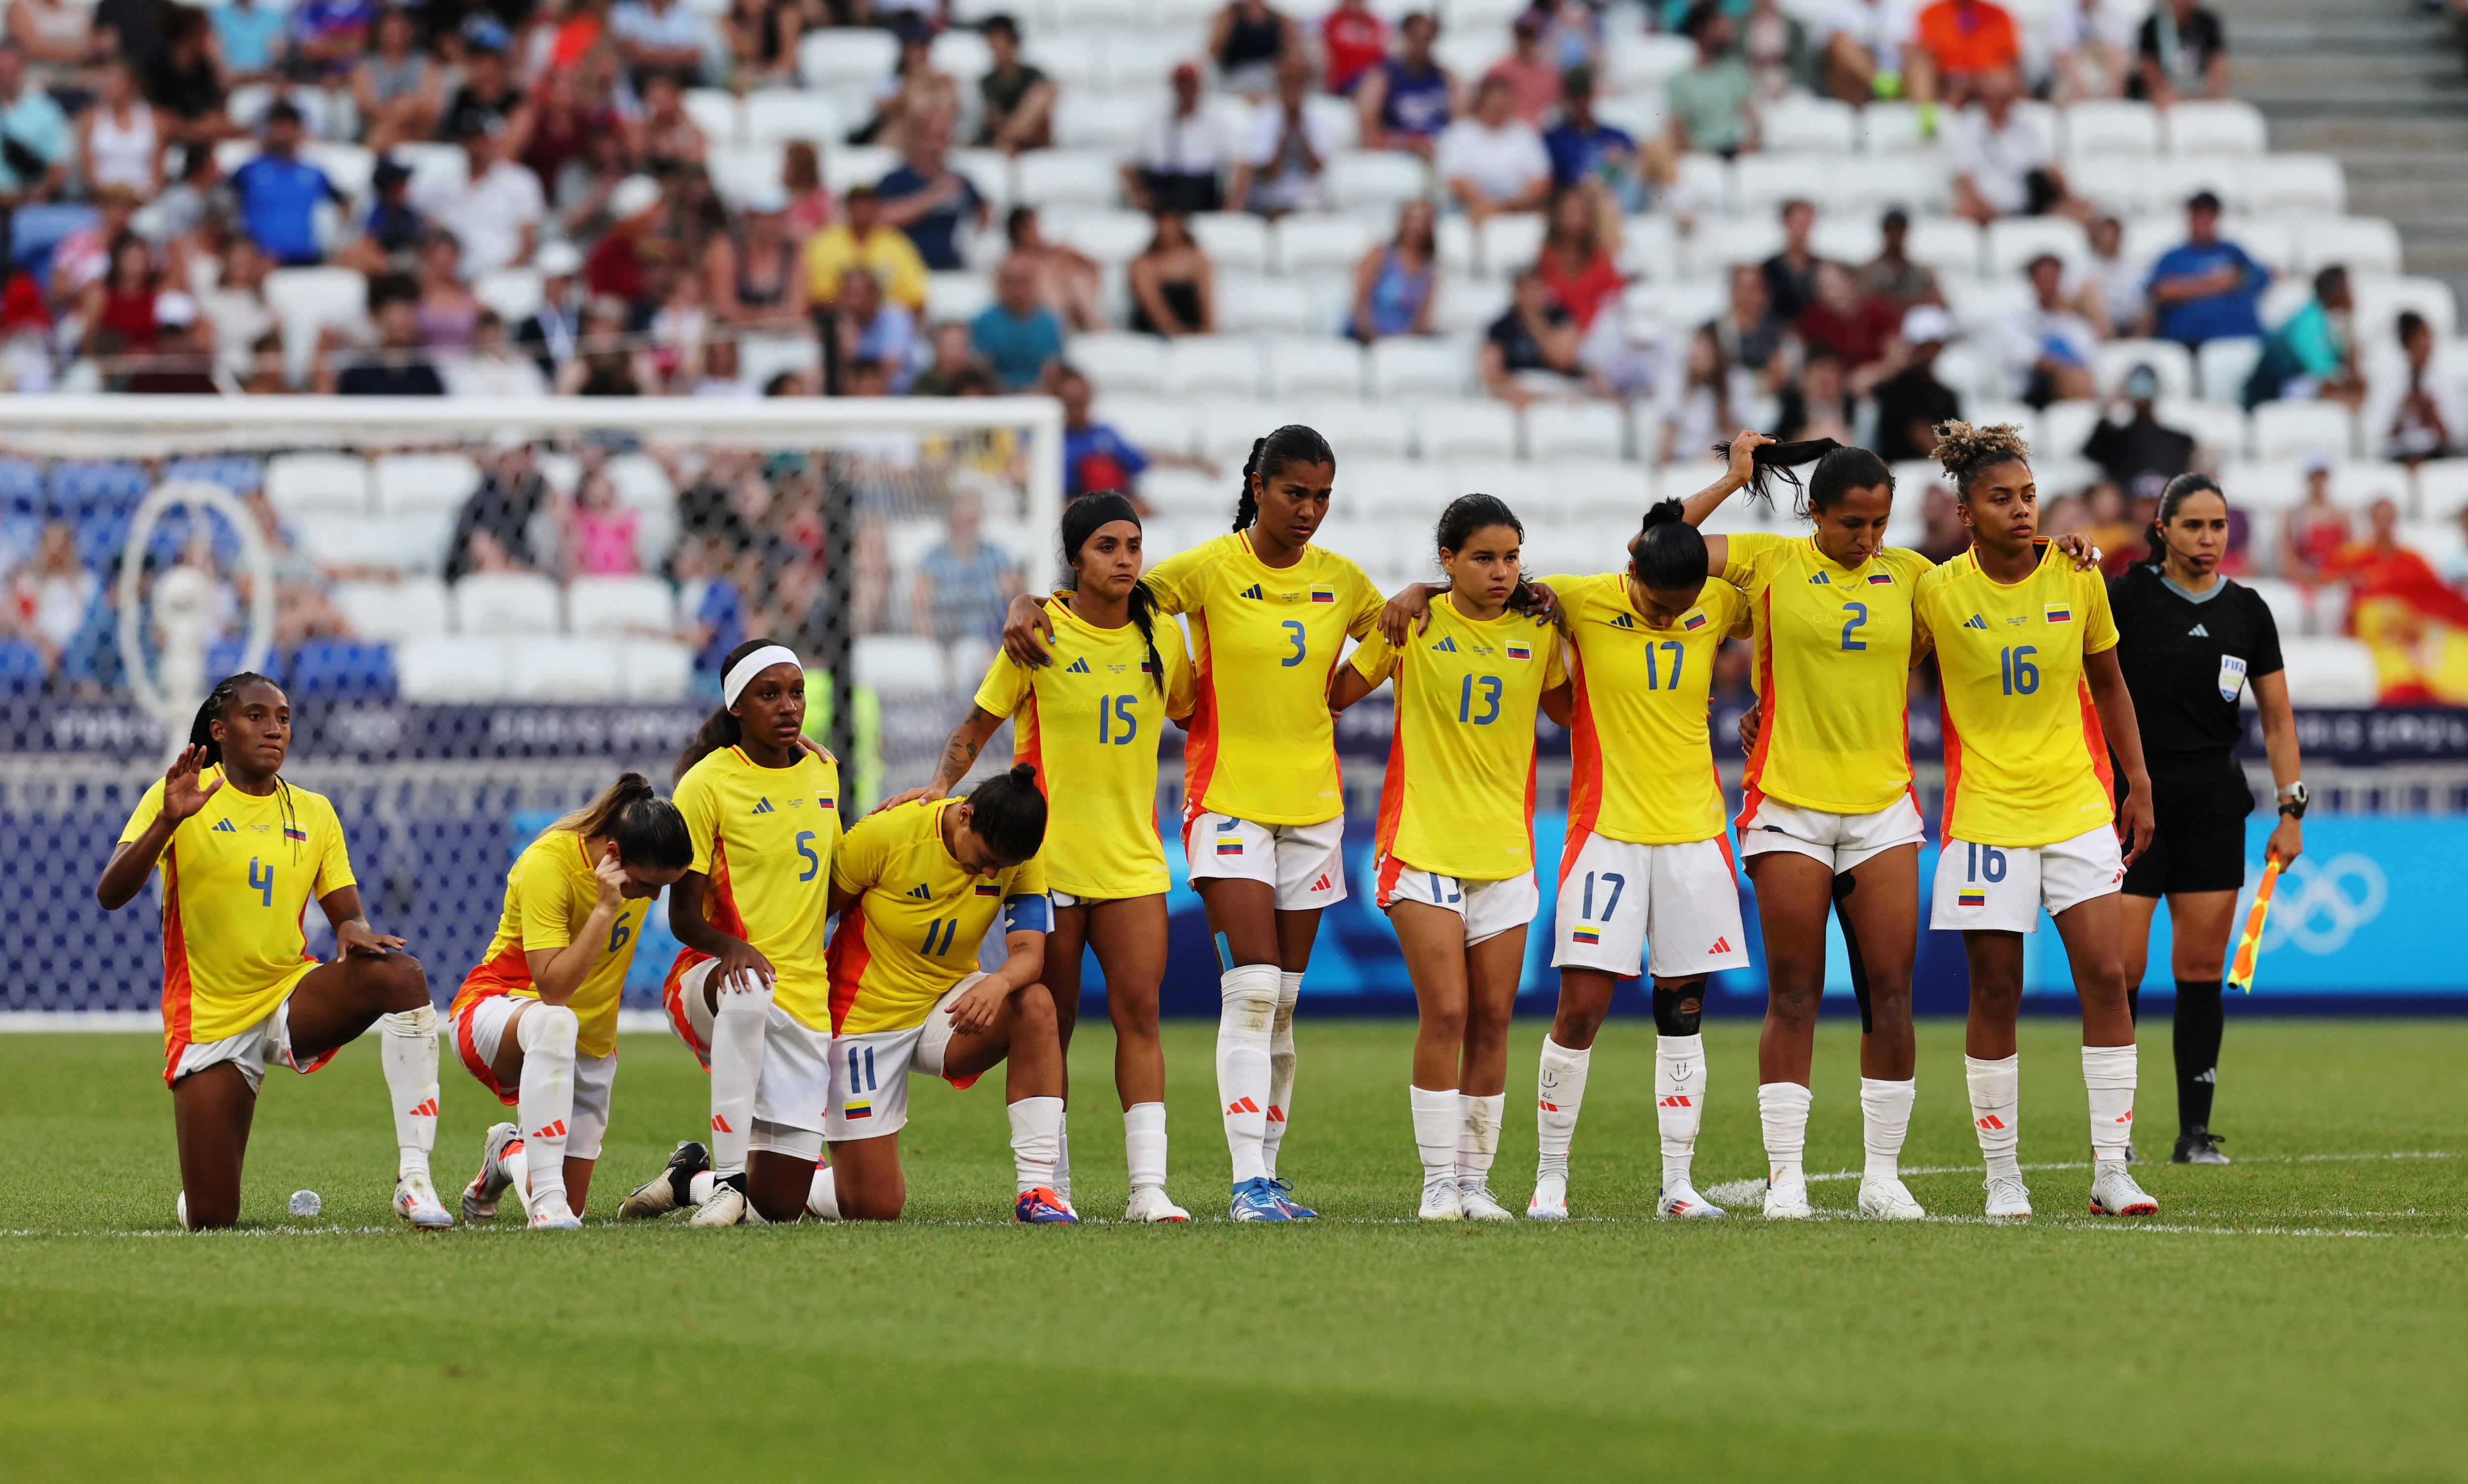
{"type": "MultiPolygon", "coordinates": [[[[1518,1022],[1496,1188],[1523,1210],[1518,1022]]],[[[2231,1168],[2142,1165],[2083,1215],[2076,1035],[2024,1027],[2039,1220],[1656,1222],[1651,1025],[1594,1057],[1567,1225],[1422,1227],[1409,1027],[1298,1027],[1283,1168],[1325,1220],[1236,1227],[1212,1027],[1167,1030],[1199,1220],[1007,1225],[1002,1094],[918,1086],[896,1227],[617,1227],[703,1121],[627,1037],[575,1235],[415,1237],[387,1212],[375,1047],[257,1114],[242,1235],[173,1230],[170,1106],[136,1035],[0,1037],[0,1437],[49,1479],[2463,1479],[2468,1022],[2229,1027],[2231,1168]],[[318,1222],[284,1198],[323,1193],[318,1222]]],[[[1708,1032],[1698,1183],[1762,1173],[1755,1027],[1708,1032]]],[[[1853,1035],[1819,1037],[1809,1168],[1858,1165],[1853,1035]]],[[[1106,1027],[1074,1054],[1076,1198],[1120,1215],[1106,1027]]],[[[1979,1210],[1960,1027],[1923,1025],[1905,1165],[1979,1210]]],[[[447,1062],[439,1188],[496,1106],[447,1062]]],[[[2167,1032],[2142,1057],[2167,1151],[2167,1032]]],[[[508,1203],[508,1212],[511,1212],[508,1203]]]]}

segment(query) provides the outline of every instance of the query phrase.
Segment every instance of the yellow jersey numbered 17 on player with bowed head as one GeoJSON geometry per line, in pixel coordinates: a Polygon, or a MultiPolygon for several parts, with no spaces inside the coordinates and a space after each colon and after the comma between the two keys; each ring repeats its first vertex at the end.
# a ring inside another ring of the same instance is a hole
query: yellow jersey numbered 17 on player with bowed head
{"type": "Polygon", "coordinates": [[[1708,578],[1696,607],[1654,627],[1626,573],[1545,578],[1572,652],[1567,852],[1587,835],[1678,844],[1723,835],[1705,709],[1713,657],[1747,632],[1747,598],[1708,578]]]}

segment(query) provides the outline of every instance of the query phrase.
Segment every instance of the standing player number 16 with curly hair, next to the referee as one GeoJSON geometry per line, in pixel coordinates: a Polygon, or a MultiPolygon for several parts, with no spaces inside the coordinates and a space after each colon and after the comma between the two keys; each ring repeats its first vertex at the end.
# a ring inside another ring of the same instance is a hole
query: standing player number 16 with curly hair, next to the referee
{"type": "Polygon", "coordinates": [[[1972,548],[1920,580],[1918,620],[1945,686],[1945,827],[1928,926],[1962,933],[1972,970],[1965,1069],[1987,1158],[1987,1215],[2029,1220],[2016,1163],[2021,936],[2056,919],[2083,1003],[2090,1210],[2150,1215],[2125,1168],[2135,1022],[2118,886],[2152,840],[2150,773],[2098,573],[2039,541],[2031,452],[2009,425],[1937,430],[1972,548]],[[2108,753],[2130,793],[2115,805],[2108,753]],[[2118,837],[2127,854],[2118,854],[2118,837]]]}

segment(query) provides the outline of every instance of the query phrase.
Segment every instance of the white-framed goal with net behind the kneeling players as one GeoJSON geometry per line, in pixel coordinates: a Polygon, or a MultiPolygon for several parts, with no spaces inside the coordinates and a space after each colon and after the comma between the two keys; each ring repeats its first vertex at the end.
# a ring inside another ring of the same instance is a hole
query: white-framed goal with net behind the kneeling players
{"type": "Polygon", "coordinates": [[[94,879],[225,674],[284,684],[286,778],[452,983],[548,820],[669,785],[745,637],[807,659],[854,807],[923,783],[1059,509],[1044,398],[49,398],[0,427],[0,1012],[153,1012],[155,904],[94,879]]]}

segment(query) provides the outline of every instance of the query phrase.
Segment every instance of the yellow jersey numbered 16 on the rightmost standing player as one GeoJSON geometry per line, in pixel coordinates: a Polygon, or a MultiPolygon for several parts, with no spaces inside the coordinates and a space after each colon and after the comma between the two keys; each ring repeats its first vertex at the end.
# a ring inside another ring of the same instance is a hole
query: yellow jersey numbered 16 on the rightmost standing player
{"type": "Polygon", "coordinates": [[[2039,543],[2004,585],[1965,551],[1920,580],[1945,684],[1945,825],[1972,844],[2053,844],[2115,817],[2108,736],[2083,654],[2115,649],[2108,583],[2039,543]]]}

